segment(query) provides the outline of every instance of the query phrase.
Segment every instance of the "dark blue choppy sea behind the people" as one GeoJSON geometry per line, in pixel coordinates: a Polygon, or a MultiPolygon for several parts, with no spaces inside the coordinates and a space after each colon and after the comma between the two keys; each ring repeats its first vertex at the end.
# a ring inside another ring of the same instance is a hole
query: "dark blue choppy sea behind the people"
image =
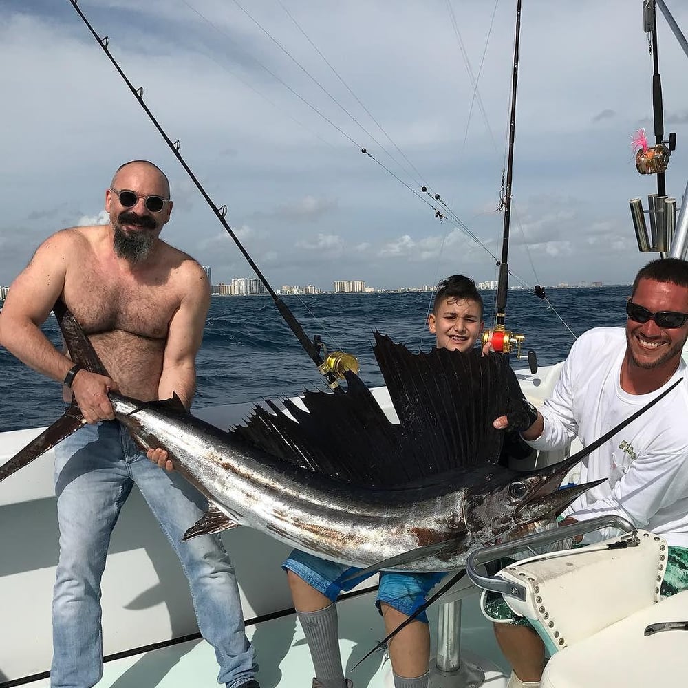
{"type": "MultiPolygon", "coordinates": [[[[508,293],[506,325],[526,335],[539,365],[561,361],[590,327],[625,325],[628,286],[548,289],[552,308],[531,292],[508,293]],[[563,322],[562,322],[563,321],[563,322]],[[563,323],[566,323],[564,325],[563,323]]],[[[485,322],[493,322],[495,292],[484,292],[485,322]]],[[[320,335],[327,350],[344,350],[361,363],[369,386],[382,385],[371,344],[378,330],[412,351],[428,350],[434,338],[425,325],[430,294],[315,294],[283,297],[306,334],[320,335]]],[[[61,342],[54,317],[43,329],[61,342]]],[[[512,356],[515,368],[527,362],[512,356]]],[[[194,408],[292,396],[325,389],[321,376],[281,319],[270,297],[214,297],[201,350],[194,408]]],[[[63,413],[60,385],[32,371],[0,347],[0,431],[50,424],[63,413]]]]}

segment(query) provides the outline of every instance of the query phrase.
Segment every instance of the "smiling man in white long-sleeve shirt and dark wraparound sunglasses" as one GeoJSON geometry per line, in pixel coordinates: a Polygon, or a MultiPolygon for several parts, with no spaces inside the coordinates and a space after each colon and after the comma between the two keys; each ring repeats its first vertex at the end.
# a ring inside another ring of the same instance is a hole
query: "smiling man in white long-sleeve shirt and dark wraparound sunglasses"
{"type": "MultiPolygon", "coordinates": [[[[532,447],[558,449],[575,437],[590,444],[685,378],[688,262],[665,258],[642,268],[626,312],[625,332],[599,327],[574,343],[552,396],[522,432],[532,447]]],[[[568,522],[618,514],[664,537],[669,544],[664,595],[688,588],[687,417],[688,384],[682,383],[581,462],[579,482],[608,480],[566,511],[568,522]]],[[[497,418],[495,427],[510,428],[509,418],[497,418]]],[[[495,635],[513,667],[509,688],[538,688],[544,644],[522,621],[495,623],[495,635]]]]}

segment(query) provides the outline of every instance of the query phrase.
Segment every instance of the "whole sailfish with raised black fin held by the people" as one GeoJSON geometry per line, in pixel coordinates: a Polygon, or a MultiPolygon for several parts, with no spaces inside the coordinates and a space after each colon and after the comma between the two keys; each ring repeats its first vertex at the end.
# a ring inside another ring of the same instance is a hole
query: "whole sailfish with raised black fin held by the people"
{"type": "MultiPolygon", "coordinates": [[[[107,374],[74,316],[62,303],[54,310],[72,360],[107,374]]],[[[189,524],[186,537],[250,526],[365,570],[448,571],[484,544],[553,526],[596,484],[557,490],[596,444],[532,473],[500,465],[504,431],[493,419],[521,403],[504,356],[411,354],[385,335],[375,339],[398,423],[351,372],[344,394],[308,391],[305,410],[286,400],[292,418],[275,404],[257,407],[229,432],[191,416],[178,398],[142,402],[109,394],[117,420],[139,446],[165,449],[207,497],[208,513],[189,524]]],[[[54,437],[34,440],[6,466],[16,470],[83,424],[74,407],[67,416],[51,426],[54,437]]]]}

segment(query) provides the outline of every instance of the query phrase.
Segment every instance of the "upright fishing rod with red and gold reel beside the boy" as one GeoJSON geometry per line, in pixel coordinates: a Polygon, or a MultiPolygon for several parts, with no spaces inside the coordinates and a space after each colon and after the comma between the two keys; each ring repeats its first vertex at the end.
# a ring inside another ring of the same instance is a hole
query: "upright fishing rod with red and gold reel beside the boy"
{"type": "MultiPolygon", "coordinates": [[[[497,314],[495,315],[495,326],[485,330],[482,334],[482,343],[490,344],[494,351],[502,354],[510,354],[514,347],[516,358],[522,358],[522,345],[526,336],[516,334],[506,329],[506,295],[509,282],[509,229],[511,222],[511,185],[513,182],[514,166],[514,142],[516,138],[516,90],[518,85],[518,61],[519,61],[519,39],[521,35],[521,0],[518,0],[516,7],[516,30],[514,41],[513,75],[511,82],[511,110],[509,116],[509,143],[508,160],[506,164],[506,185],[504,186],[504,230],[502,232],[502,259],[497,261],[499,266],[499,279],[497,281],[497,314]]],[[[544,294],[544,290],[541,290],[544,294]]],[[[535,290],[536,296],[538,288],[535,290]]],[[[528,363],[533,373],[537,371],[537,359],[535,352],[528,352],[528,363]]]]}

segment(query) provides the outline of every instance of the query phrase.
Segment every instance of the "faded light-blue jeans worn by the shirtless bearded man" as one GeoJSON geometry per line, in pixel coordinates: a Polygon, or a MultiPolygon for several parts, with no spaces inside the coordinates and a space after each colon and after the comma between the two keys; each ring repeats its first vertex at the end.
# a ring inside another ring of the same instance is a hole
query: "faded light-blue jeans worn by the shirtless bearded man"
{"type": "MultiPolygon", "coordinates": [[[[178,473],[149,461],[118,422],[87,425],[56,447],[60,559],[52,605],[53,688],[91,688],[103,676],[100,578],[110,535],[138,485],[189,579],[202,636],[215,647],[218,680],[237,688],[255,670],[234,569],[217,535],[182,542],[208,504],[178,473]]],[[[136,575],[132,572],[131,575],[136,575]]]]}

